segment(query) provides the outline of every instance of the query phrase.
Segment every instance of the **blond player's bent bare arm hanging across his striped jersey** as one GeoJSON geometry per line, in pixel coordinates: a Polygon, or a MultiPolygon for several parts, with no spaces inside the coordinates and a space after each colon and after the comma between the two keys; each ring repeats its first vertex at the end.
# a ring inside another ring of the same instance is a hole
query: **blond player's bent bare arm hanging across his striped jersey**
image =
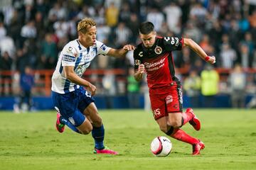
{"type": "Polygon", "coordinates": [[[90,94],[93,96],[96,93],[96,86],[90,84],[89,81],[82,79],[74,72],[73,66],[64,66],[65,78],[73,82],[74,84],[78,84],[80,86],[85,86],[85,88],[90,91],[90,94]]]}

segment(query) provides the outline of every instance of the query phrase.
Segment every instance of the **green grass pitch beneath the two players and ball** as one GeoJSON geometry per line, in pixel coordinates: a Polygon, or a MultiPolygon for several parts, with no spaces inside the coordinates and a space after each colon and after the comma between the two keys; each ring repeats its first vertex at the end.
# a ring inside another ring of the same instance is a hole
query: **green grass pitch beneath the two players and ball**
{"type": "Polygon", "coordinates": [[[150,143],[160,132],[151,113],[140,110],[100,111],[105,144],[119,155],[92,154],[91,135],[55,130],[55,111],[0,112],[0,169],[255,169],[256,111],[194,109],[201,131],[189,123],[188,134],[206,148],[191,156],[191,145],[171,139],[169,157],[154,157],[150,143]]]}

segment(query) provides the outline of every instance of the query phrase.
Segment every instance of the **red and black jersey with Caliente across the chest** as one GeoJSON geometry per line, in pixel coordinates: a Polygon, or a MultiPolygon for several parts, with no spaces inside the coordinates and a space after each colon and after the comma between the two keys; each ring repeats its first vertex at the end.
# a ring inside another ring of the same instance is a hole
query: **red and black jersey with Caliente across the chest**
{"type": "Polygon", "coordinates": [[[174,58],[171,51],[181,50],[183,38],[156,37],[156,42],[150,48],[142,43],[134,50],[134,69],[144,64],[149,88],[156,88],[178,81],[175,77],[174,58]]]}

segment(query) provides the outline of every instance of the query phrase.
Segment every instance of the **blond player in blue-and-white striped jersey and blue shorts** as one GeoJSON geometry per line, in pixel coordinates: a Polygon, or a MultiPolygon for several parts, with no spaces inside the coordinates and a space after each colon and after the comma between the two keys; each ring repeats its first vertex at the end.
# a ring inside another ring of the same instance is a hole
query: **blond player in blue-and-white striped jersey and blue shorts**
{"type": "Polygon", "coordinates": [[[53,104],[58,111],[55,127],[58,132],[63,132],[65,125],[80,134],[92,132],[95,154],[118,154],[103,143],[105,129],[92,98],[97,88],[81,77],[97,55],[124,57],[134,46],[124,45],[116,50],[97,41],[96,34],[95,21],[85,18],[78,23],[78,39],[68,42],[60,52],[51,87],[53,104]]]}

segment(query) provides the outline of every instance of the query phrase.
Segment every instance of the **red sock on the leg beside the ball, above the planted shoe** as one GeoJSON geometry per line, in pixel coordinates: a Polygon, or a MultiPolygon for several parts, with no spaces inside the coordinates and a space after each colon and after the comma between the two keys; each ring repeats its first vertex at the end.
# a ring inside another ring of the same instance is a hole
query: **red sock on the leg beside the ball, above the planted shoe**
{"type": "Polygon", "coordinates": [[[176,139],[176,140],[181,140],[182,142],[186,142],[191,145],[198,143],[198,139],[186,134],[186,132],[184,132],[180,128],[174,129],[174,132],[170,136],[174,137],[174,139],[176,139]]]}

